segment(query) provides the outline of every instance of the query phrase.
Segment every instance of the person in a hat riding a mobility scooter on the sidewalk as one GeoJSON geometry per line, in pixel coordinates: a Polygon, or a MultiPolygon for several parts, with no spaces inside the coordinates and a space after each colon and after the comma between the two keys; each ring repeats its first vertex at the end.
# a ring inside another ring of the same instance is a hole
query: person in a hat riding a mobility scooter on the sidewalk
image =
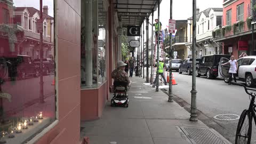
{"type": "Polygon", "coordinates": [[[128,74],[124,71],[126,64],[123,61],[117,61],[117,68],[112,72],[111,77],[114,79],[114,97],[111,99],[113,106],[129,106],[127,98],[127,87],[131,85],[128,74]]]}

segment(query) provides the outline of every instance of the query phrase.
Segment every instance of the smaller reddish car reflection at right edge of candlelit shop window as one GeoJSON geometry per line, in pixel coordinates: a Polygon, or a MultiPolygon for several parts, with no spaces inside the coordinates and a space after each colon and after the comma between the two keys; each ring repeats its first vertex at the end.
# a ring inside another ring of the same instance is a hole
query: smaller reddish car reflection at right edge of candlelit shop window
{"type": "MultiPolygon", "coordinates": [[[[40,67],[40,59],[34,59],[34,63],[40,67]]],[[[55,71],[55,63],[53,59],[43,58],[43,74],[49,74],[55,71]]]]}

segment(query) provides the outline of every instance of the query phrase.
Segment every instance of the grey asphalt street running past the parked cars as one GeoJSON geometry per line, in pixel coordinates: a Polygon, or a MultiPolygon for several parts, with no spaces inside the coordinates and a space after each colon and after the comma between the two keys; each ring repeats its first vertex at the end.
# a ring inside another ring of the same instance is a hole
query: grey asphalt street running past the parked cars
{"type": "MultiPolygon", "coordinates": [[[[150,70],[150,68],[149,68],[150,70]]],[[[168,71],[169,73],[169,71],[168,71]]],[[[145,70],[146,75],[146,70],[145,70]]],[[[167,72],[165,76],[167,75],[167,72]]],[[[179,74],[173,71],[178,85],[173,85],[175,96],[183,100],[180,105],[190,110],[192,76],[187,73],[179,74]]],[[[238,81],[243,83],[241,81],[238,81]]],[[[256,87],[255,87],[256,89],[256,87]]],[[[235,143],[235,133],[238,120],[219,121],[213,117],[220,114],[241,115],[244,109],[249,108],[249,95],[244,88],[237,85],[228,85],[222,79],[206,79],[205,76],[196,78],[198,118],[207,126],[212,127],[230,142],[235,143]],[[203,115],[203,116],[202,116],[203,115]]],[[[253,122],[251,143],[256,143],[256,129],[253,122]]]]}

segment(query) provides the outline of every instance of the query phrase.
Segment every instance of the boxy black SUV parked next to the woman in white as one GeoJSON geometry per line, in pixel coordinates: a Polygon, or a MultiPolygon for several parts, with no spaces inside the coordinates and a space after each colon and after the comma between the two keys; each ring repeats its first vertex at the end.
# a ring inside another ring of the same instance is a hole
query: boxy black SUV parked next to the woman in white
{"type": "Polygon", "coordinates": [[[201,75],[204,75],[208,79],[216,78],[218,76],[220,59],[230,57],[231,55],[224,54],[213,54],[203,56],[202,60],[196,66],[196,76],[200,77],[201,75]]]}

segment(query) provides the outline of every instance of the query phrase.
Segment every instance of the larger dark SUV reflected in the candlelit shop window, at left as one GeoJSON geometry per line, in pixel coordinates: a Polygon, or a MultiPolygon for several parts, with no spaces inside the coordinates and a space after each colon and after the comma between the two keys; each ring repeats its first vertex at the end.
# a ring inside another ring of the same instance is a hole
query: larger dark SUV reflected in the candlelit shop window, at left
{"type": "Polygon", "coordinates": [[[35,65],[28,55],[15,55],[4,57],[9,71],[9,77],[25,79],[27,76],[39,76],[39,67],[35,65]]]}

